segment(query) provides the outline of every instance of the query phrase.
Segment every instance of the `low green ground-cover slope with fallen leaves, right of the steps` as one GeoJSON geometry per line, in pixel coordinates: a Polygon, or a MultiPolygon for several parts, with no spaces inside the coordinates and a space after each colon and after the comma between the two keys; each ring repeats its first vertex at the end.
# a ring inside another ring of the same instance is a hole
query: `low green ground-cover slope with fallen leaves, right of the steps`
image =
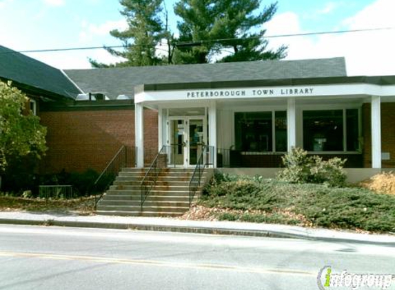
{"type": "Polygon", "coordinates": [[[365,188],[216,175],[199,205],[220,220],[395,232],[395,196],[365,188]]]}

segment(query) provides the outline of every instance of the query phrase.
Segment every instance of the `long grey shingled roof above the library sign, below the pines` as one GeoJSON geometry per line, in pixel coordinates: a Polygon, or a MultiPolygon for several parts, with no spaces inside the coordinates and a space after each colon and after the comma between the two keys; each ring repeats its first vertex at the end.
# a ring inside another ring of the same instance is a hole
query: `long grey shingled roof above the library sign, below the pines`
{"type": "Polygon", "coordinates": [[[148,84],[180,84],[291,78],[347,76],[344,58],[312,60],[264,60],[239,63],[71,69],[67,74],[85,93],[101,92],[109,98],[134,97],[134,87],[148,84]]]}

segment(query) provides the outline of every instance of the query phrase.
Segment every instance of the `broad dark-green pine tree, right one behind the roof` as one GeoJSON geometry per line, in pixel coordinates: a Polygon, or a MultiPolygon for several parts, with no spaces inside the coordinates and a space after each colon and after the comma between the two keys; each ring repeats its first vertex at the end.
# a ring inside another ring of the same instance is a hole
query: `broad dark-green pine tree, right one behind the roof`
{"type": "Polygon", "coordinates": [[[176,56],[181,63],[281,59],[284,45],[268,50],[262,25],[276,13],[277,2],[258,12],[261,0],[180,0],[174,12],[182,19],[176,56]],[[223,56],[227,52],[227,56],[223,56]]]}

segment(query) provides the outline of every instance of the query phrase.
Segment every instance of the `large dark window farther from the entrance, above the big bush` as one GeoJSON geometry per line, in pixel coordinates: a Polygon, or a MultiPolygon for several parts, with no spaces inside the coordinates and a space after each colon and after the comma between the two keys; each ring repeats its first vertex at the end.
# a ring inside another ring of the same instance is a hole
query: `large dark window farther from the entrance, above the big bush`
{"type": "Polygon", "coordinates": [[[303,111],[307,151],[356,151],[358,132],[358,109],[303,111]]]}

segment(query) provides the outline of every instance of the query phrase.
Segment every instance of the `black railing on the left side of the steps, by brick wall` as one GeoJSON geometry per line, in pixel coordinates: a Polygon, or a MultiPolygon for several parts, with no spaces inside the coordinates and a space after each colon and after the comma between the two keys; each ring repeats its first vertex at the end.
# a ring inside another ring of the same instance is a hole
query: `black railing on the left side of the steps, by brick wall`
{"type": "Polygon", "coordinates": [[[136,153],[136,147],[121,146],[117,154],[108,162],[99,177],[94,181],[90,190],[91,193],[94,193],[94,210],[97,209],[97,203],[103,197],[104,192],[110,188],[110,185],[114,182],[122,168],[136,166],[136,153]]]}

